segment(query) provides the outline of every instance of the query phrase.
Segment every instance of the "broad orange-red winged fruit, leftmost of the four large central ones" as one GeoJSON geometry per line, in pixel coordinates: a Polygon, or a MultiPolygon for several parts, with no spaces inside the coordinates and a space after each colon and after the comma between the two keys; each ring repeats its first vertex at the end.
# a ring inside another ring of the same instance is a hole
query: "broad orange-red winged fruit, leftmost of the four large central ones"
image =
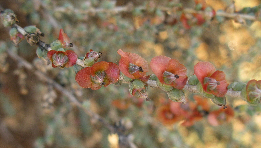
{"type": "Polygon", "coordinates": [[[83,88],[93,90],[107,87],[119,80],[119,67],[115,63],[101,61],[80,70],[76,76],[76,82],[83,88]]]}

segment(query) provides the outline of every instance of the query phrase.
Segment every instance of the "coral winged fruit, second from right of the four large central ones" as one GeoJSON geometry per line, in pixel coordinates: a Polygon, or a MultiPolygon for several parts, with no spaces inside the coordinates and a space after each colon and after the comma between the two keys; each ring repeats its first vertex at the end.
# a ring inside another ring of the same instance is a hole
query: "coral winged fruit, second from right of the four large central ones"
{"type": "Polygon", "coordinates": [[[150,66],[162,84],[170,85],[176,89],[183,89],[186,85],[187,69],[177,59],[156,56],[151,59],[150,66]]]}

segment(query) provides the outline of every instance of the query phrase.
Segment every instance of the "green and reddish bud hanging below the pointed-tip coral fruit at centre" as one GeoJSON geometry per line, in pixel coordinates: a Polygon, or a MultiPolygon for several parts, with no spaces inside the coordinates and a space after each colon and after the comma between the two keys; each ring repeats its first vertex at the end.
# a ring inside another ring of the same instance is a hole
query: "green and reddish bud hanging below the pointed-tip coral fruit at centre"
{"type": "Polygon", "coordinates": [[[139,98],[146,98],[146,101],[150,100],[148,98],[147,85],[138,79],[134,79],[133,82],[130,84],[130,94],[139,98]]]}

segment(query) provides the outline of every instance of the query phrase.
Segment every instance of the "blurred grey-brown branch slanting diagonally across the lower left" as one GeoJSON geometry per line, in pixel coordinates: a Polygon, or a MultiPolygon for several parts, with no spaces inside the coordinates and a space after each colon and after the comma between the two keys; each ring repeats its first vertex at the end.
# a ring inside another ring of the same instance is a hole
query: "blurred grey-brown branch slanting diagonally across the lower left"
{"type": "Polygon", "coordinates": [[[33,72],[38,78],[39,80],[41,80],[42,82],[46,82],[49,83],[51,85],[53,85],[58,91],[60,91],[63,95],[67,96],[70,100],[70,102],[74,103],[76,106],[78,106],[79,108],[82,108],[85,113],[87,115],[89,115],[90,117],[97,119],[98,121],[100,121],[106,128],[108,128],[111,132],[113,133],[117,133],[119,136],[122,136],[124,139],[124,141],[126,141],[129,145],[129,147],[135,148],[137,147],[131,140],[128,139],[128,137],[126,135],[124,135],[122,132],[120,132],[117,128],[115,128],[113,125],[110,125],[110,123],[108,123],[107,121],[105,121],[104,118],[102,118],[101,116],[99,116],[98,114],[92,112],[91,110],[85,108],[78,100],[77,98],[73,95],[73,93],[71,91],[68,91],[66,89],[64,89],[64,87],[62,87],[59,83],[55,82],[54,80],[52,80],[51,78],[49,78],[48,76],[46,76],[45,74],[43,74],[42,72],[40,72],[39,70],[36,70],[34,68],[34,66],[27,62],[25,59],[23,59],[22,57],[20,57],[19,55],[12,53],[11,51],[7,51],[8,55],[15,61],[19,62],[19,64],[21,64],[24,68],[26,68],[27,70],[33,72]]]}

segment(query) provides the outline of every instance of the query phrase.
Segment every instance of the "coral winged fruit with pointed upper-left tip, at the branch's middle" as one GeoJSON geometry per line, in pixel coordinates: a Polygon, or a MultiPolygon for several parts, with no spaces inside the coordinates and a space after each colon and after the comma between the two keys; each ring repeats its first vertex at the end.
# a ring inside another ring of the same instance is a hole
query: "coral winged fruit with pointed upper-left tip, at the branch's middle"
{"type": "Polygon", "coordinates": [[[145,59],[136,53],[123,52],[121,49],[117,53],[121,55],[119,69],[124,75],[132,79],[148,80],[148,63],[145,59]]]}

